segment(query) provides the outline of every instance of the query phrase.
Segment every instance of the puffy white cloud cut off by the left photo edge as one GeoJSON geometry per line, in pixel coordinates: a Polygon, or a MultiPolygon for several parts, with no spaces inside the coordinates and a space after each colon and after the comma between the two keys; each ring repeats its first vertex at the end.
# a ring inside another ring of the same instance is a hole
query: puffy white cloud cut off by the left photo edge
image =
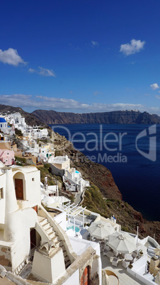
{"type": "Polygon", "coordinates": [[[17,50],[13,48],[8,48],[8,50],[0,50],[0,62],[6,63],[8,65],[18,66],[19,64],[26,65],[20,55],[18,55],[17,50]]]}

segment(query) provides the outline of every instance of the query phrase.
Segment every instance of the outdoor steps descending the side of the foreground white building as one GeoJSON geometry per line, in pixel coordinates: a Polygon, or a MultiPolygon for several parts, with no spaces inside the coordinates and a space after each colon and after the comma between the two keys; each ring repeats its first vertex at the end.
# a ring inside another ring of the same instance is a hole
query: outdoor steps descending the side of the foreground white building
{"type": "Polygon", "coordinates": [[[64,247],[62,240],[59,240],[59,237],[57,236],[57,234],[53,230],[53,228],[50,225],[50,222],[47,220],[47,218],[43,218],[43,217],[38,216],[38,222],[39,222],[40,227],[42,227],[42,229],[45,230],[45,234],[47,235],[47,238],[49,240],[52,240],[53,242],[55,242],[56,247],[62,248],[63,255],[64,255],[65,268],[67,269],[67,267],[69,267],[69,265],[71,264],[71,261],[67,255],[67,250],[64,247]]]}

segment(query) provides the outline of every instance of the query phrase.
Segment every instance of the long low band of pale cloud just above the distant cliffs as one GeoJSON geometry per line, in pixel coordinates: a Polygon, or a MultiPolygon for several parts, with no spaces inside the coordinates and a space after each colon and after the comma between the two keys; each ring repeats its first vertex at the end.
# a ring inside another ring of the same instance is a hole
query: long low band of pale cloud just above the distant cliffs
{"type": "MultiPolygon", "coordinates": [[[[156,97],[160,99],[160,96],[156,97]]],[[[55,111],[69,111],[76,113],[91,113],[91,112],[109,112],[119,110],[139,110],[141,112],[147,111],[149,113],[157,113],[160,115],[159,107],[147,108],[142,104],[102,104],[93,103],[85,104],[73,99],[64,99],[47,96],[32,96],[25,94],[12,94],[12,95],[0,95],[0,102],[4,105],[10,105],[15,107],[21,107],[25,111],[34,111],[35,109],[55,110],[55,111]]]]}

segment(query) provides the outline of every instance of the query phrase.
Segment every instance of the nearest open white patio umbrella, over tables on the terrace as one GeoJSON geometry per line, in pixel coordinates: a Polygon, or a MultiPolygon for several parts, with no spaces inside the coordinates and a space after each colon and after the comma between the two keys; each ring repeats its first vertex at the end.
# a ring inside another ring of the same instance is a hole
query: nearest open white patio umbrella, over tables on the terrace
{"type": "Polygon", "coordinates": [[[115,252],[130,253],[136,250],[136,239],[128,233],[115,232],[109,235],[107,244],[115,252]]]}

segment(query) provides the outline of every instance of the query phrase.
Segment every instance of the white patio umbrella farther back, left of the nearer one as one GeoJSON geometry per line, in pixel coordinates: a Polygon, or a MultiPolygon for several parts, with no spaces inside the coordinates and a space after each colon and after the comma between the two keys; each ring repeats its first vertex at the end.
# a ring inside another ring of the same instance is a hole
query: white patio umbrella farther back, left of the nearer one
{"type": "Polygon", "coordinates": [[[88,228],[88,232],[94,238],[98,238],[103,240],[104,238],[108,238],[108,235],[113,233],[115,229],[110,223],[103,222],[99,220],[98,222],[93,222],[88,228]]]}

